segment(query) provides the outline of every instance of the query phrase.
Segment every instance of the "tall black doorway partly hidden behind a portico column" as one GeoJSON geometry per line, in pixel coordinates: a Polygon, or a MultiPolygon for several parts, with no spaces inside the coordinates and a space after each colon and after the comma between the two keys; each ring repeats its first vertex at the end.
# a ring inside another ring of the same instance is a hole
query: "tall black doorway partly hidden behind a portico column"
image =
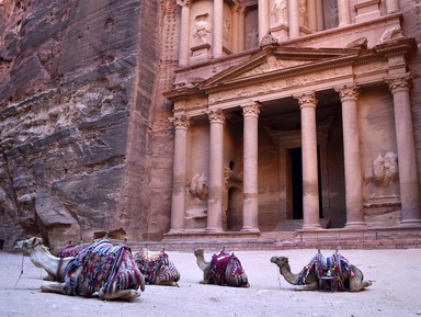
{"type": "MultiPolygon", "coordinates": [[[[289,149],[292,186],[293,186],[293,219],[303,219],[303,151],[301,148],[289,149]]],[[[323,217],[321,195],[320,151],[317,147],[317,171],[319,183],[319,217],[323,217]]]]}

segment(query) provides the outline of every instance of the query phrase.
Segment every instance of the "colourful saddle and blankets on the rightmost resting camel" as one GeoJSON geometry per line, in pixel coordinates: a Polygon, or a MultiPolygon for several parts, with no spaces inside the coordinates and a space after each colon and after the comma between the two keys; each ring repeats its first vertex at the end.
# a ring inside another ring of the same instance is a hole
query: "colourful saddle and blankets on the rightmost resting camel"
{"type": "Polygon", "coordinates": [[[318,280],[323,278],[331,278],[333,280],[333,290],[338,292],[349,291],[344,273],[348,272],[348,276],[353,278],[351,271],[351,263],[338,251],[331,257],[325,257],[322,253],[317,254],[308,262],[301,270],[298,278],[298,285],[306,284],[306,279],[309,274],[316,274],[318,280]]]}

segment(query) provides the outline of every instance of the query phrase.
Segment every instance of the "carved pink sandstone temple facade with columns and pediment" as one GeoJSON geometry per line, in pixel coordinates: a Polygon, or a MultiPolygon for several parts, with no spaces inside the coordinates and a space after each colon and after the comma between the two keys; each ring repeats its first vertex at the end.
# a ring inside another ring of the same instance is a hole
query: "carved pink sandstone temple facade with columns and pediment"
{"type": "Polygon", "coordinates": [[[398,0],[178,0],[169,235],[419,226],[398,0]]]}

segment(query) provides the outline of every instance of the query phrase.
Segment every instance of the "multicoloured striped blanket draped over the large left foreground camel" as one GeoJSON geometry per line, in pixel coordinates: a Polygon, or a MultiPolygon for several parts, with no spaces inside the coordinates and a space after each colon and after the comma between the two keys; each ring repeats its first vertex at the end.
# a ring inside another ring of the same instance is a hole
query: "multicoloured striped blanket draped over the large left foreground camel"
{"type": "Polygon", "coordinates": [[[137,269],[132,251],[126,246],[114,246],[109,239],[100,239],[81,250],[65,268],[65,292],[77,295],[81,282],[86,297],[99,292],[137,290],[141,285],[141,273],[137,269]],[[81,268],[80,280],[77,272],[81,268]]]}

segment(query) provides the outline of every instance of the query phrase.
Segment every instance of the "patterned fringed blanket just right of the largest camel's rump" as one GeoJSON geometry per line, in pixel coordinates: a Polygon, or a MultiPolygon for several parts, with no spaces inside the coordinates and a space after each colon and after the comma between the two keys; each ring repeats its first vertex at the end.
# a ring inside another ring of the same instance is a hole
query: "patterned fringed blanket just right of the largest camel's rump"
{"type": "Polygon", "coordinates": [[[137,268],[145,276],[148,284],[160,284],[166,282],[178,282],[180,280],[179,270],[169,260],[166,250],[152,252],[141,248],[134,254],[137,268]]]}

